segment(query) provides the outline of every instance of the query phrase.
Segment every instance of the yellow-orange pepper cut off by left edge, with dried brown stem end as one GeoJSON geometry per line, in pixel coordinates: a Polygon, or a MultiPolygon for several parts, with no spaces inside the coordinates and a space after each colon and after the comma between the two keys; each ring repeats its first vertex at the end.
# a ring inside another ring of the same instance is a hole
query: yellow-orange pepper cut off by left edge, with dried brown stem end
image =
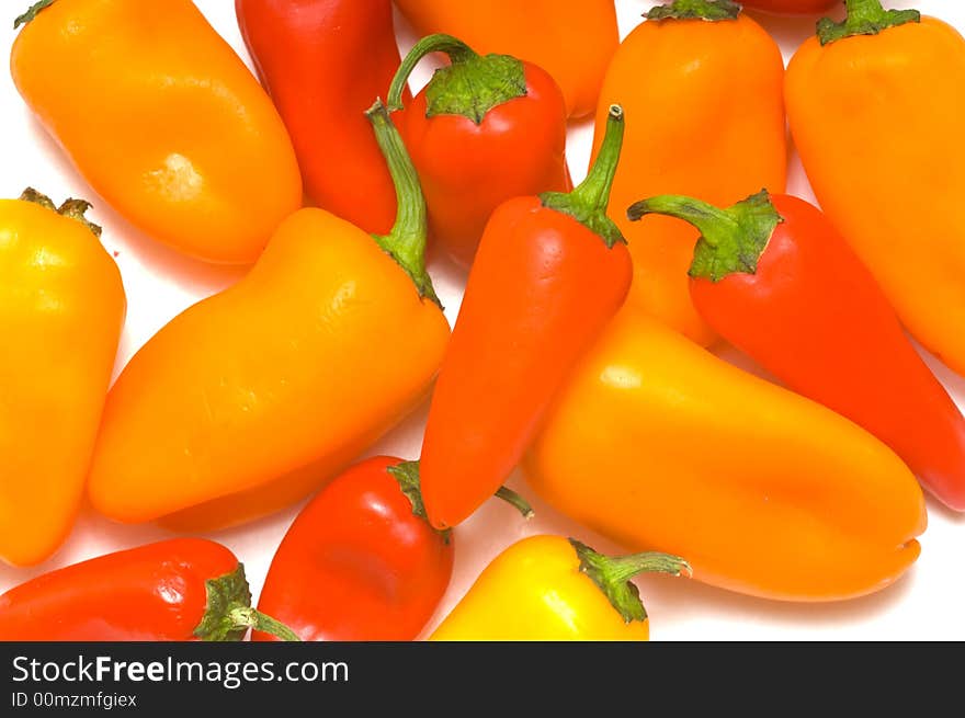
{"type": "Polygon", "coordinates": [[[0,559],[47,559],[73,524],[127,303],[83,219],[33,190],[0,200],[0,559]],[[52,430],[56,428],[56,430],[52,430]]]}

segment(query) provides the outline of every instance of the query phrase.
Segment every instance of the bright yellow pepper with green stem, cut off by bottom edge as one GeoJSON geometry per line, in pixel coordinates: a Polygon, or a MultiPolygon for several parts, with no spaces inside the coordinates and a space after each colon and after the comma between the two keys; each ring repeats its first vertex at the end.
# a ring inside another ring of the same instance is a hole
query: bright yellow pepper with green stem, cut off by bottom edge
{"type": "Polygon", "coordinates": [[[430,640],[649,640],[631,582],[640,573],[690,573],[682,558],[608,557],[576,539],[530,536],[496,557],[430,640]]]}

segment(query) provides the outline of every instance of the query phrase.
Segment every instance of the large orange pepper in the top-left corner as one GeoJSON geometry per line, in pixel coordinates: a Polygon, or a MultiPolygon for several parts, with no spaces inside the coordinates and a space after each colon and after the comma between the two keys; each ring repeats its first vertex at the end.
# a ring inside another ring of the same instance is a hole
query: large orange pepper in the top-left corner
{"type": "Polygon", "coordinates": [[[302,205],[271,100],[190,0],[39,2],[13,81],[91,186],[209,262],[250,263],[302,205]]]}

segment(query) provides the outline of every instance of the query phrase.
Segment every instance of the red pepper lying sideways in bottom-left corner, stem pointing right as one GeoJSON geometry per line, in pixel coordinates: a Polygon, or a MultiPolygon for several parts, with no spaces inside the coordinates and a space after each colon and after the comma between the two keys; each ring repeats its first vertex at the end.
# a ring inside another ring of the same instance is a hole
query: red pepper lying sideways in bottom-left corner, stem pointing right
{"type": "Polygon", "coordinates": [[[0,595],[0,641],[241,640],[256,626],[298,640],[251,608],[235,555],[200,538],[109,554],[0,595]]]}

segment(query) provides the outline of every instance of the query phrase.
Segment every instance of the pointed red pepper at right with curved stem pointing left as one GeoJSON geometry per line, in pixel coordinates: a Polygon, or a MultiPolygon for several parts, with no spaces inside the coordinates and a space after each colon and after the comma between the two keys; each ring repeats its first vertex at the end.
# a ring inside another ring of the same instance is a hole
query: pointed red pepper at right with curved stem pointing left
{"type": "Polygon", "coordinates": [[[767,192],[728,209],[665,195],[627,214],[696,227],[690,288],[707,323],[791,389],[864,426],[941,501],[965,510],[965,420],[824,214],[767,192]]]}

